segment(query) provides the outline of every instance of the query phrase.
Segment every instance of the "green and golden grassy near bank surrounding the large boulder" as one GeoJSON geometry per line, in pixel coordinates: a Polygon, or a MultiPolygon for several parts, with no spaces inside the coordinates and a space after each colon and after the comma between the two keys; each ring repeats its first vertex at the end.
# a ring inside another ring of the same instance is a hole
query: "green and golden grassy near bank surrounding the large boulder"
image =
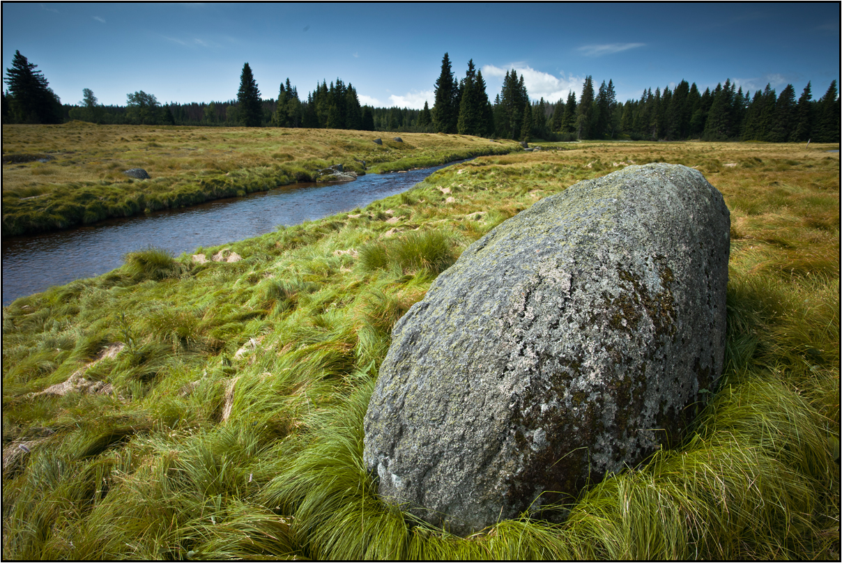
{"type": "Polygon", "coordinates": [[[565,148],[446,168],[237,262],[150,249],[15,300],[4,555],[838,559],[838,147],[565,148]],[[361,421],[393,323],[493,226],[630,162],[698,167],[732,212],[727,369],[694,431],[561,525],[462,539],[382,503],[361,421]]]}

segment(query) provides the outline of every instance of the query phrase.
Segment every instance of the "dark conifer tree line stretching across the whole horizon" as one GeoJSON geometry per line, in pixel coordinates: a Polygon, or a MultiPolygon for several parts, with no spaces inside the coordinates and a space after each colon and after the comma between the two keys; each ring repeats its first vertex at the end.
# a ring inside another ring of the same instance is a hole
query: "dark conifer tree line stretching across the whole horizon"
{"type": "Polygon", "coordinates": [[[356,89],[337,78],[322,81],[306,99],[287,78],[277,98],[261,98],[248,62],[242,67],[237,98],[191,104],[161,104],[142,90],[126,94],[125,106],[99,104],[88,88],[77,104],[61,104],[37,65],[15,51],[4,78],[4,123],[62,123],[83,120],[101,124],[274,126],[352,130],[459,133],[519,141],[631,139],[682,141],[839,141],[839,97],[836,81],[821,98],[812,85],[796,99],[791,84],[775,93],[767,84],[752,95],[730,79],[700,93],[695,82],[682,80],[643,91],[640,99],[618,103],[614,84],[594,87],[584,80],[578,99],[530,101],[524,77],[505,74],[501,92],[489,101],[482,72],[468,61],[465,76],[456,79],[447,53],[434,83],[434,106],[424,109],[373,108],[360,105],[356,89]]]}

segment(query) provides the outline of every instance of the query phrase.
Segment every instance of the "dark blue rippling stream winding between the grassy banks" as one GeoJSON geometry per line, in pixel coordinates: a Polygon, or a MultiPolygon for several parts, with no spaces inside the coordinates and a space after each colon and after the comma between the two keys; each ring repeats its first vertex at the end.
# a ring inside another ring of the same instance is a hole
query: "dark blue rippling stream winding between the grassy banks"
{"type": "Polygon", "coordinates": [[[343,183],[297,183],[68,231],[3,237],[3,306],[52,285],[109,272],[120,267],[126,252],[150,245],[178,256],[364,207],[400,194],[450,164],[454,162],[406,173],[366,174],[343,183]]]}

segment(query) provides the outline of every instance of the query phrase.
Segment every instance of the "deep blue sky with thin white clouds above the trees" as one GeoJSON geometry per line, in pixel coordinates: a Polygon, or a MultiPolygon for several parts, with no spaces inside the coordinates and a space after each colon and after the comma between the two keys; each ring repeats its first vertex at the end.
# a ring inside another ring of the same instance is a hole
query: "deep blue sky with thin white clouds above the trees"
{"type": "Polygon", "coordinates": [[[432,107],[445,51],[456,77],[473,59],[492,100],[510,68],[552,102],[588,75],[621,102],[726,78],[797,96],[809,80],[819,98],[839,81],[839,3],[3,3],[3,69],[15,50],[71,104],[83,88],[101,104],[233,99],[248,62],[264,98],[339,77],[363,104],[432,107]]]}

